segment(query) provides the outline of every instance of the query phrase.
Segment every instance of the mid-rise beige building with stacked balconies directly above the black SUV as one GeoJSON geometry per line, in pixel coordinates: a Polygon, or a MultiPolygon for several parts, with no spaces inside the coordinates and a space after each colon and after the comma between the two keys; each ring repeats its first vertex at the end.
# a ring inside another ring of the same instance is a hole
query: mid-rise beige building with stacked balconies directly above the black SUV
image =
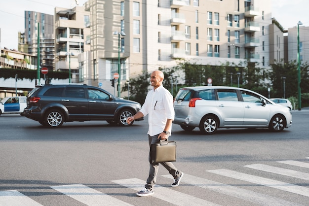
{"type": "Polygon", "coordinates": [[[71,83],[82,81],[79,73],[82,75],[80,68],[83,64],[79,67],[78,58],[82,63],[82,57],[90,51],[89,12],[82,6],[72,9],[56,7],[54,17],[55,70],[71,73],[71,83]]]}

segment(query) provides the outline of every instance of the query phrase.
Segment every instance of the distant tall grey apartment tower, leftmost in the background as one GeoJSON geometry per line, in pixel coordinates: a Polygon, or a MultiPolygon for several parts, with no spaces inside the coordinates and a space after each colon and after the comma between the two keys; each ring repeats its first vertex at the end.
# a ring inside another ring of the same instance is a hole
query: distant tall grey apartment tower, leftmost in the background
{"type": "Polygon", "coordinates": [[[38,56],[39,48],[40,66],[53,70],[54,47],[54,16],[25,11],[25,33],[18,34],[18,51],[38,56]]]}

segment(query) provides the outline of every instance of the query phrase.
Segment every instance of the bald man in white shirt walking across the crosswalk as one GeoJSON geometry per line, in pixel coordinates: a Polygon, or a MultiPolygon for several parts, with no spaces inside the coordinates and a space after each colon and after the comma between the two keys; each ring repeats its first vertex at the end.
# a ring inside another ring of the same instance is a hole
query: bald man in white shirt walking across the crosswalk
{"type": "MultiPolygon", "coordinates": [[[[130,124],[134,119],[138,119],[149,114],[148,123],[148,140],[149,146],[158,143],[159,139],[167,139],[171,135],[172,122],[175,112],[173,107],[173,96],[162,85],[164,74],[162,71],[156,70],[150,76],[151,85],[154,87],[148,92],[145,103],[141,110],[134,116],[127,118],[127,123],[130,124]]],[[[150,156],[149,156],[150,162],[150,156]]],[[[173,163],[160,163],[174,177],[172,187],[177,187],[184,176],[173,163]]],[[[159,169],[159,164],[151,164],[149,176],[145,188],[138,193],[137,196],[144,197],[154,194],[154,185],[156,184],[156,174],[159,169]]]]}

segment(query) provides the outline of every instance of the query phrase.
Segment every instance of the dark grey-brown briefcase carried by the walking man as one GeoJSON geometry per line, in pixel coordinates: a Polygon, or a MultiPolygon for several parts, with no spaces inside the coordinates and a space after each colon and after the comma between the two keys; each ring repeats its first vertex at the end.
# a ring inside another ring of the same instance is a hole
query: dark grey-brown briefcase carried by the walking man
{"type": "Polygon", "coordinates": [[[150,163],[176,161],[176,142],[160,140],[159,143],[150,145],[150,163]]]}

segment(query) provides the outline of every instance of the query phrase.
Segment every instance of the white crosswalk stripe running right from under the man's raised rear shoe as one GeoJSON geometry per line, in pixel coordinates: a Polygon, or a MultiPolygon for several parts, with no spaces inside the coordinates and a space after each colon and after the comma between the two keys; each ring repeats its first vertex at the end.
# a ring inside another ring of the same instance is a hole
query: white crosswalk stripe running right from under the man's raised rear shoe
{"type": "MultiPolygon", "coordinates": [[[[172,178],[170,175],[162,175],[166,178],[172,178]]],[[[212,180],[196,177],[193,175],[186,174],[181,179],[181,182],[191,184],[193,186],[201,187],[203,189],[218,192],[224,195],[229,195],[241,200],[249,201],[258,205],[263,206],[296,206],[297,204],[285,201],[279,198],[275,198],[269,195],[264,195],[250,190],[234,187],[231,185],[215,182],[212,180]]]]}

